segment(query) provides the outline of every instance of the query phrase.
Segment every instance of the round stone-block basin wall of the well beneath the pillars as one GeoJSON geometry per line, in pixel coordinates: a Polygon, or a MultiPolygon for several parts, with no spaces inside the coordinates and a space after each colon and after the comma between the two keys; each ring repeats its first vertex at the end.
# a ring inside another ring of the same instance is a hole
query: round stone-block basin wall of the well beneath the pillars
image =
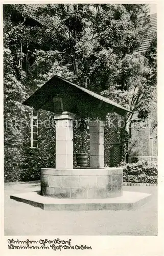
{"type": "Polygon", "coordinates": [[[41,168],[41,195],[98,199],[123,195],[123,168],[41,168]]]}

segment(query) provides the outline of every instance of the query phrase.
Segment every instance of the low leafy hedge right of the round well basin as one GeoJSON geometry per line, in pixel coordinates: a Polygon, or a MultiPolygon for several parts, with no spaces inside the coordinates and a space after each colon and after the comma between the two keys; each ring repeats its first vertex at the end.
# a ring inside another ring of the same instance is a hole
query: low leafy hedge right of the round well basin
{"type": "Polygon", "coordinates": [[[123,181],[134,183],[157,183],[157,162],[137,162],[123,165],[123,181]]]}

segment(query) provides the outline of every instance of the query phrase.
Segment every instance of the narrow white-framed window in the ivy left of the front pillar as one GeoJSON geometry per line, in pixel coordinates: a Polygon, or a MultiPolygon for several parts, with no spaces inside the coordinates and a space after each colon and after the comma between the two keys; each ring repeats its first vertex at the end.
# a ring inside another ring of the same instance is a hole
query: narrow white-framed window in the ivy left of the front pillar
{"type": "Polygon", "coordinates": [[[31,117],[31,147],[38,147],[38,113],[35,110],[31,117]]]}

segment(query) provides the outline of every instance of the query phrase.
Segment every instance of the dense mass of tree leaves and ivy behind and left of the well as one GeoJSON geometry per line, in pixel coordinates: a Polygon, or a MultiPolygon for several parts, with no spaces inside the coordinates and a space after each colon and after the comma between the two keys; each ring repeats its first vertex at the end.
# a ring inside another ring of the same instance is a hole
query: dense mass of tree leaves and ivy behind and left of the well
{"type": "MultiPolygon", "coordinates": [[[[53,114],[39,113],[39,146],[32,149],[31,109],[21,104],[53,75],[61,75],[81,86],[85,86],[87,79],[88,89],[146,114],[156,86],[156,69],[150,64],[151,58],[156,63],[152,50],[147,56],[135,52],[150,26],[147,5],[38,6],[35,13],[27,16],[28,5],[4,5],[6,181],[36,179],[41,166],[55,165],[53,114]],[[35,16],[40,22],[34,22],[29,16],[35,16]],[[50,127],[43,125],[45,120],[50,120],[50,127]],[[14,124],[9,125],[10,122],[14,124]]],[[[130,117],[123,120],[127,131],[130,117]]],[[[125,131],[119,128],[117,132],[122,135],[126,154],[125,131]]],[[[77,152],[81,135],[76,130],[74,134],[77,152]]],[[[87,149],[86,138],[84,143],[87,149]]],[[[74,163],[76,165],[76,161],[74,163]]]]}

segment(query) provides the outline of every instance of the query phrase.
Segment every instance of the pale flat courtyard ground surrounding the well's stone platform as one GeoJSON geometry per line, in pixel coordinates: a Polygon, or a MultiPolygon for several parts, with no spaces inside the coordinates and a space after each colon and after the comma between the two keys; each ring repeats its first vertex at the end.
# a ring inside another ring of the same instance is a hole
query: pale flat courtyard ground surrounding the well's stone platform
{"type": "Polygon", "coordinates": [[[5,183],[5,236],[157,236],[157,187],[124,186],[152,194],[136,210],[45,211],[10,199],[40,190],[40,182],[5,183]]]}

